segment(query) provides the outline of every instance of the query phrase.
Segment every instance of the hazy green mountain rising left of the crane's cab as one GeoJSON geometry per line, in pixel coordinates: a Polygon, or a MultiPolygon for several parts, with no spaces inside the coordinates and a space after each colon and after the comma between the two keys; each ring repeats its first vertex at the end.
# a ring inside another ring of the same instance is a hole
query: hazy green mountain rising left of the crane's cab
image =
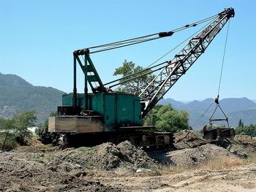
{"type": "Polygon", "coordinates": [[[61,104],[63,91],[31,85],[15,74],[0,73],[0,118],[35,110],[39,122],[61,104]]]}

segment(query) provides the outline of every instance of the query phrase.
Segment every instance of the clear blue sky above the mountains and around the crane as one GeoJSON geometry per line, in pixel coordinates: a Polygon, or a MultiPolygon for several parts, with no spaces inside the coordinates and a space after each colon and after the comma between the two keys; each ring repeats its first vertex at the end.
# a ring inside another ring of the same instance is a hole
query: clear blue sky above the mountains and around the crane
{"type": "MultiPolygon", "coordinates": [[[[33,85],[72,92],[72,52],[139,37],[207,18],[233,7],[220,90],[221,98],[256,99],[256,1],[0,1],[0,72],[33,85]]],[[[215,97],[227,26],[191,69],[166,94],[178,101],[215,97]]],[[[91,55],[103,82],[116,79],[124,59],[148,66],[194,33],[91,55]]],[[[173,52],[179,52],[182,47],[173,52]]],[[[168,55],[164,60],[171,60],[168,55]]],[[[83,91],[79,70],[78,91],[83,91]]]]}

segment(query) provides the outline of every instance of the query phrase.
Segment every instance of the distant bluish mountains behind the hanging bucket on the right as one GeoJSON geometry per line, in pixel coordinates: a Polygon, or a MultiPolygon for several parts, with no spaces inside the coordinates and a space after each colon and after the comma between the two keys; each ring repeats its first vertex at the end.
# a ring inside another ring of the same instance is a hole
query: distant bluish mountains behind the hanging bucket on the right
{"type": "MultiPolygon", "coordinates": [[[[177,103],[181,102],[175,101],[173,99],[162,99],[159,101],[159,104],[172,104],[176,110],[186,110],[189,113],[189,125],[196,130],[202,128],[204,125],[206,125],[206,123],[208,123],[208,119],[211,117],[216,107],[214,99],[211,98],[205,99],[203,101],[195,100],[187,104],[181,103],[177,105],[177,103]]],[[[230,126],[238,126],[238,121],[240,119],[244,122],[244,125],[248,125],[249,123],[256,123],[256,104],[254,101],[244,97],[222,99],[219,101],[219,103],[222,107],[222,110],[225,112],[225,115],[227,115],[230,126]]],[[[221,110],[217,108],[213,118],[225,118],[225,116],[221,110]]],[[[219,123],[225,124],[225,122],[219,123]]]]}

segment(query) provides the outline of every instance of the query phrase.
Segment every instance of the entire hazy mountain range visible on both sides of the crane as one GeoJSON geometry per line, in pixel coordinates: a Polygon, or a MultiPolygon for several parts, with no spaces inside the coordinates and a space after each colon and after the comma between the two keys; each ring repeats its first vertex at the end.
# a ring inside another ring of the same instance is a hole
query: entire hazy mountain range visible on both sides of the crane
{"type": "MultiPolygon", "coordinates": [[[[61,105],[63,93],[56,88],[31,85],[15,74],[0,73],[0,118],[12,118],[19,112],[35,110],[39,122],[42,122],[48,118],[50,112],[56,111],[57,106],[61,105]]],[[[172,104],[177,110],[186,110],[189,112],[189,124],[192,126],[213,101],[214,99],[205,99],[184,103],[173,99],[162,99],[159,104],[172,104]]],[[[230,98],[220,100],[220,104],[229,118],[231,126],[236,127],[239,119],[243,120],[245,125],[256,123],[256,104],[254,101],[246,98],[230,98]]],[[[208,123],[214,106],[213,104],[193,128],[198,129],[208,123]]],[[[219,111],[216,115],[217,118],[223,117],[219,111]]]]}

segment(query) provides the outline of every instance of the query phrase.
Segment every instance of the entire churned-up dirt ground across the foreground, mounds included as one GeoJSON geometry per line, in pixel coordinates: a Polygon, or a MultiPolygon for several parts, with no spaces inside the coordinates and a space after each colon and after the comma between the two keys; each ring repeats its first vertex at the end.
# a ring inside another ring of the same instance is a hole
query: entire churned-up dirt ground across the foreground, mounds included
{"type": "Polygon", "coordinates": [[[256,140],[220,145],[193,131],[159,153],[129,142],[63,149],[34,141],[0,153],[0,191],[256,191],[256,140]]]}

